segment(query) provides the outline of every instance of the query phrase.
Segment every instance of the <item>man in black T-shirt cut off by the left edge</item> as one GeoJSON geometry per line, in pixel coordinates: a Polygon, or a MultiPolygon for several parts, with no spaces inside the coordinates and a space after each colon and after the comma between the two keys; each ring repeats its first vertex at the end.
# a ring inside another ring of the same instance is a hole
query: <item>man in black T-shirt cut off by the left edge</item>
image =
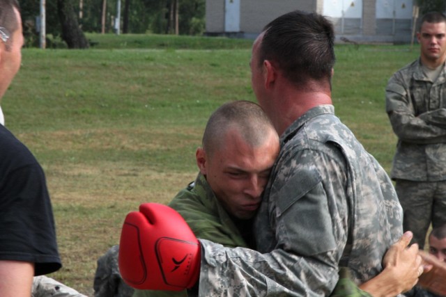
{"type": "MultiPolygon", "coordinates": [[[[0,0],[0,100],[23,42],[17,0],[0,0]]],[[[34,275],[61,268],[54,216],[43,169],[0,119],[0,296],[30,296],[34,275]]]]}

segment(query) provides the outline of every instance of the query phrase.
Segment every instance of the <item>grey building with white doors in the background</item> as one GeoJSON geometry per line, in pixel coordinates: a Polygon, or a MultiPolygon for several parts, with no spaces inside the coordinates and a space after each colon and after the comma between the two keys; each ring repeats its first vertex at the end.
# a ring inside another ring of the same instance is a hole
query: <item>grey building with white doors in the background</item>
{"type": "Polygon", "coordinates": [[[206,0],[206,34],[255,38],[272,19],[295,9],[331,19],[337,39],[411,40],[413,0],[206,0]]]}

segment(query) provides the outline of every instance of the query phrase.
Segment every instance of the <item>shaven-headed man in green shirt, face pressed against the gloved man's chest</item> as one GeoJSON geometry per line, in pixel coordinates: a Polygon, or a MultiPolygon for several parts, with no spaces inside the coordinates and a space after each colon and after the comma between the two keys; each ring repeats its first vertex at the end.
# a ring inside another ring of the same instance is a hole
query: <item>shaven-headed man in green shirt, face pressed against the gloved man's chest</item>
{"type": "MultiPolygon", "coordinates": [[[[194,183],[180,191],[169,206],[178,211],[199,239],[222,246],[255,248],[252,218],[261,201],[269,172],[279,153],[274,127],[253,102],[229,102],[217,109],[206,125],[203,147],[197,149],[200,173],[194,183]],[[238,127],[238,129],[231,129],[238,127]],[[266,137],[267,136],[267,137],[266,137]],[[265,138],[266,137],[266,138],[265,138]],[[256,144],[256,145],[254,145],[256,144]]],[[[405,248],[410,239],[402,244],[405,248]]],[[[98,261],[95,296],[131,296],[117,267],[118,246],[98,261]]],[[[401,266],[396,270],[404,270],[401,266]]],[[[334,296],[370,296],[352,282],[342,268],[334,296]]],[[[388,275],[387,275],[388,276],[388,275]]],[[[367,290],[379,295],[377,287],[398,287],[398,273],[385,280],[370,281],[367,290]]],[[[133,297],[187,296],[185,291],[136,290],[133,297]]],[[[207,295],[206,295],[207,296],[207,295]]]]}

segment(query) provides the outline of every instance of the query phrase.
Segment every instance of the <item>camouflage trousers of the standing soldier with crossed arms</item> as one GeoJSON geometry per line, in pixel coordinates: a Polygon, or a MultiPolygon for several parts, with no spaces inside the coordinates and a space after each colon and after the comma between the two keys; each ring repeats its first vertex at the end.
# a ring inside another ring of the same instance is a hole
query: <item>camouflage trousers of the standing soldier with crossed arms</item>
{"type": "Polygon", "coordinates": [[[403,229],[413,232],[412,243],[424,249],[429,225],[446,224],[446,181],[413,182],[397,179],[395,184],[399,202],[403,207],[403,229]]]}

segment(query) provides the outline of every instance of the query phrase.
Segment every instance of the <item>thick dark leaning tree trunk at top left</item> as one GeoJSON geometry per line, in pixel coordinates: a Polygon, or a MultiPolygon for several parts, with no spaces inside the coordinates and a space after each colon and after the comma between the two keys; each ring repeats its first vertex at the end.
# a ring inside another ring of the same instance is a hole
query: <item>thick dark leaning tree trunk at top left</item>
{"type": "Polygon", "coordinates": [[[70,0],[57,0],[57,13],[62,25],[62,39],[69,49],[87,49],[89,42],[79,28],[75,10],[70,0]]]}

